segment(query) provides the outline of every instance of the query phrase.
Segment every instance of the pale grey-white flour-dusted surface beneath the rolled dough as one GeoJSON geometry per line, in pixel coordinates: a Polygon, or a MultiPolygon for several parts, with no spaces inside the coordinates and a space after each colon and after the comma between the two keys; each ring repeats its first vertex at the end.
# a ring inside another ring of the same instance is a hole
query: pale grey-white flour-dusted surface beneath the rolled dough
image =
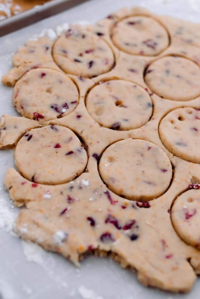
{"type": "MultiPolygon", "coordinates": [[[[30,36],[61,23],[95,22],[122,6],[143,5],[155,13],[199,21],[199,0],[91,0],[0,38],[0,75],[11,67],[11,54],[30,36]]],[[[11,103],[13,88],[0,85],[0,114],[18,115],[11,103]]],[[[109,259],[87,257],[77,269],[63,257],[43,251],[11,234],[17,208],[4,190],[6,169],[14,166],[13,150],[0,151],[0,298],[3,299],[193,299],[200,279],[189,294],[145,288],[136,274],[109,259]]]]}

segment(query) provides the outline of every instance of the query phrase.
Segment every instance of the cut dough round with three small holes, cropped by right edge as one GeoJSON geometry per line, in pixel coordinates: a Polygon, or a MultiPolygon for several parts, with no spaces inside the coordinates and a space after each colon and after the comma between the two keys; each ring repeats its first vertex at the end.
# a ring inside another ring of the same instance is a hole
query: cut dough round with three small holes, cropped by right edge
{"type": "Polygon", "coordinates": [[[200,110],[187,107],[169,112],[160,122],[159,135],[169,152],[200,163],[200,110]]]}

